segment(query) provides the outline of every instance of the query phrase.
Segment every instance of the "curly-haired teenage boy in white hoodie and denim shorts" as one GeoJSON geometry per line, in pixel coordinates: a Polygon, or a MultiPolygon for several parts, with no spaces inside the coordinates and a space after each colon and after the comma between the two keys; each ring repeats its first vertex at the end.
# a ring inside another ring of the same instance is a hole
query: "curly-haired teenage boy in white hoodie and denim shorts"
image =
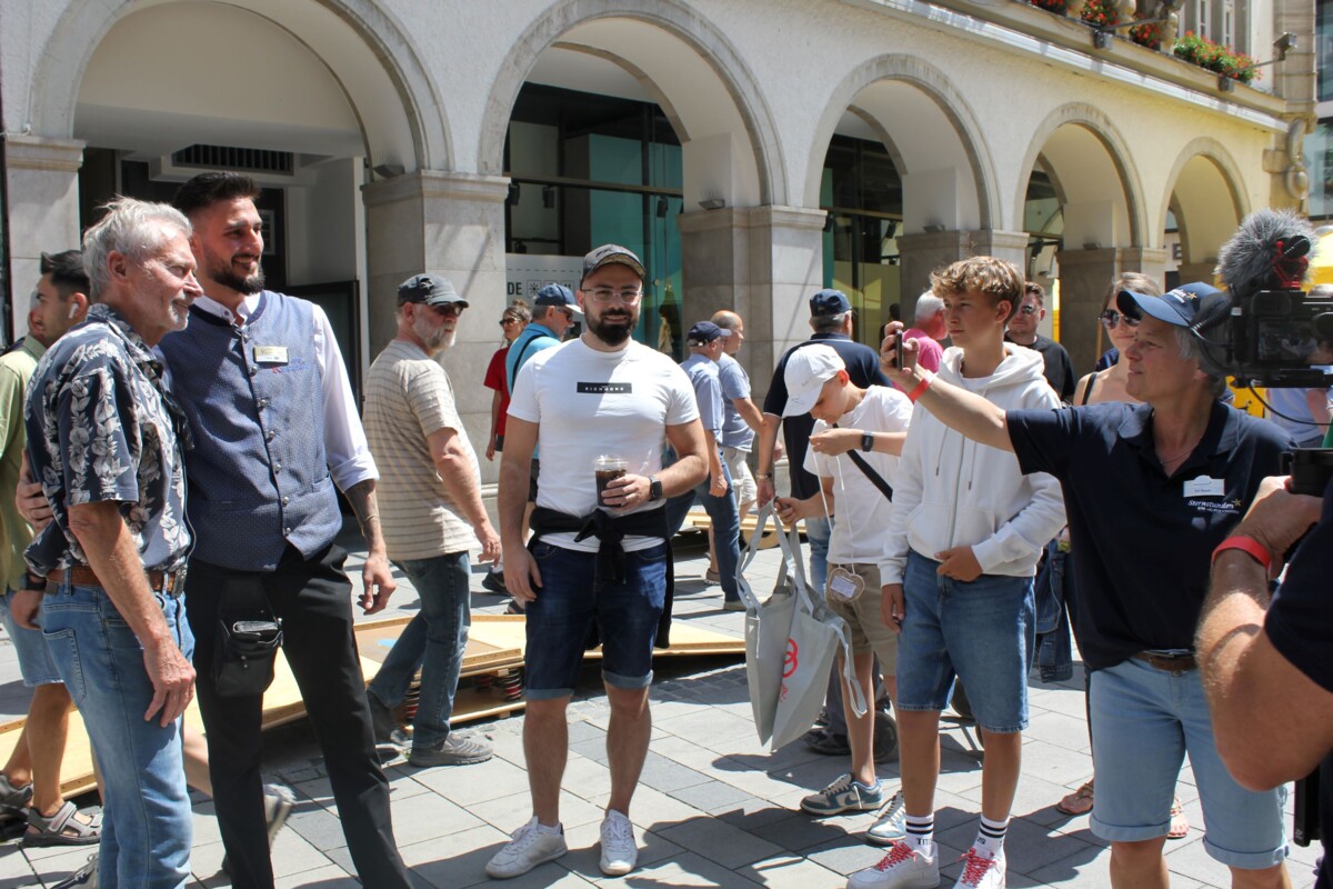
{"type": "MultiPolygon", "coordinates": [[[[1037,352],[1004,341],[1022,300],[1010,263],[977,256],[930,275],[953,348],[938,377],[1005,409],[1060,407],[1037,352]]],[[[913,401],[920,391],[909,392],[913,401]]],[[[1004,837],[1028,725],[1037,556],[1065,524],[1060,484],[1024,476],[1008,452],[974,444],[929,412],[912,416],[884,561],[884,621],[898,638],[898,745],[906,837],[849,889],[936,886],[940,712],[957,676],[985,741],[981,825],[957,888],[1002,889],[1004,837]]]]}

